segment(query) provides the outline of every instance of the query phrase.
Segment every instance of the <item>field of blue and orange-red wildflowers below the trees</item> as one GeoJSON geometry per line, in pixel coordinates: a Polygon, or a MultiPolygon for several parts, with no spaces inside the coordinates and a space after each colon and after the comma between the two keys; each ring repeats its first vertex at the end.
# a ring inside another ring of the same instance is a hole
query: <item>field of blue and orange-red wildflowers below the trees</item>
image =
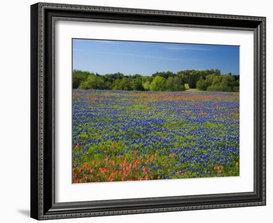
{"type": "Polygon", "coordinates": [[[72,90],[72,182],[239,175],[239,93],[72,90]]]}

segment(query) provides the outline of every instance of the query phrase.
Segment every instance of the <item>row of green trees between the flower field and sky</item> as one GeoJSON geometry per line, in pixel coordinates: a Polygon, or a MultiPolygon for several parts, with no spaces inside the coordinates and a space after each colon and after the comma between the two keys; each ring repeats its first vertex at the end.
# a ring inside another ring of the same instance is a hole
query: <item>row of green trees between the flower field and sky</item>
{"type": "Polygon", "coordinates": [[[239,75],[221,74],[218,69],[156,72],[151,76],[120,72],[100,75],[73,70],[72,79],[73,89],[185,91],[185,84],[188,84],[189,88],[203,91],[239,91],[239,75]]]}

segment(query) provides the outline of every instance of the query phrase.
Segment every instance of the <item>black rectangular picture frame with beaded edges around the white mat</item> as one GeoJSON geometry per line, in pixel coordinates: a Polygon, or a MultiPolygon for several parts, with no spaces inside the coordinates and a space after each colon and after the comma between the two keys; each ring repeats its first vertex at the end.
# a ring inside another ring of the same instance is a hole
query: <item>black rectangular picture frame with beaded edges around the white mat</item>
{"type": "Polygon", "coordinates": [[[266,205],[266,18],[102,7],[31,5],[31,217],[37,220],[266,205]],[[55,202],[56,20],[254,31],[254,191],[108,201],[55,202]]]}

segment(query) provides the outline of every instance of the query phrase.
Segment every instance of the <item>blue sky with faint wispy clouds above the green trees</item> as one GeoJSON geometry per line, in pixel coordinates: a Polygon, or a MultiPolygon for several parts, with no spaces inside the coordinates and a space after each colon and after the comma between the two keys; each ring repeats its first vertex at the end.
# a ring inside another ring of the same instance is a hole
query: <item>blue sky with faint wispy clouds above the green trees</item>
{"type": "Polygon", "coordinates": [[[104,75],[219,69],[239,74],[239,46],[73,39],[73,69],[104,75]]]}

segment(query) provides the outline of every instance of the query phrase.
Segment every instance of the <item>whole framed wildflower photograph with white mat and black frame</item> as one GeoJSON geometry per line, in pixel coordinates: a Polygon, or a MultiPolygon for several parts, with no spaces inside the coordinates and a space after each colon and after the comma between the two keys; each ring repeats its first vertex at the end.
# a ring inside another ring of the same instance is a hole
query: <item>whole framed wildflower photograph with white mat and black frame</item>
{"type": "Polygon", "coordinates": [[[31,217],[266,205],[266,18],[31,5],[31,217]]]}

